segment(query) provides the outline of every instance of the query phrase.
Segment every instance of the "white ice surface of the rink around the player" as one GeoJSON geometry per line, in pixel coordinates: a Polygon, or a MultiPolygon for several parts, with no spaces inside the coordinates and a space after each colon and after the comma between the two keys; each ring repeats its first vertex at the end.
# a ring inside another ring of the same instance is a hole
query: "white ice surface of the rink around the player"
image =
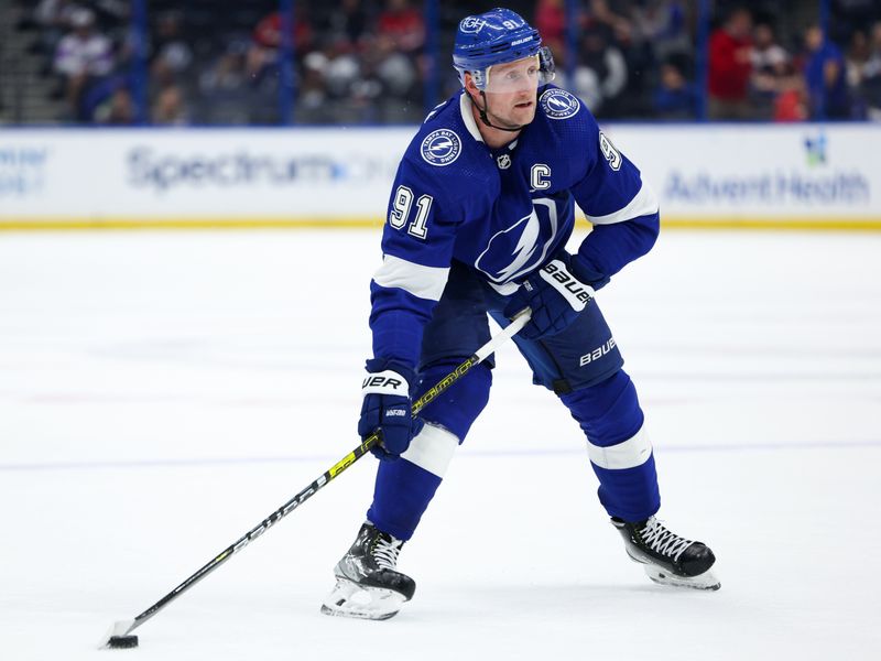
{"type": "Polygon", "coordinates": [[[661,516],[721,590],[629,562],[511,345],[385,622],[318,613],[367,457],[94,649],[357,444],[376,232],[0,236],[0,658],[881,659],[881,236],[667,232],[599,303],[661,516]]]}

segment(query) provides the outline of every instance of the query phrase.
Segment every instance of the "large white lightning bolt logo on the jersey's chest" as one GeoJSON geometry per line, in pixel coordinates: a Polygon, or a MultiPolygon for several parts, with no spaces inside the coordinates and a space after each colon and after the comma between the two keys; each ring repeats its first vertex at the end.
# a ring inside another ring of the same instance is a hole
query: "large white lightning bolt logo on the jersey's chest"
{"type": "Polygon", "coordinates": [[[556,203],[543,197],[532,204],[532,214],[496,234],[475,261],[494,284],[510,282],[541,264],[557,238],[556,203]]]}

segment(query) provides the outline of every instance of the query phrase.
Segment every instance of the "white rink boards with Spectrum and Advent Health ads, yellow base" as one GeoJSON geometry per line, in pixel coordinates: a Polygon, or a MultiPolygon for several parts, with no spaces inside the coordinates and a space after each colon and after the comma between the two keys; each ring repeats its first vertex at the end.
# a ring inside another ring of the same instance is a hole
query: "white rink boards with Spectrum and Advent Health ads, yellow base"
{"type": "MultiPolygon", "coordinates": [[[[0,130],[0,229],[379,227],[414,130],[0,130]]],[[[603,131],[666,227],[881,229],[875,124],[603,131]]]]}

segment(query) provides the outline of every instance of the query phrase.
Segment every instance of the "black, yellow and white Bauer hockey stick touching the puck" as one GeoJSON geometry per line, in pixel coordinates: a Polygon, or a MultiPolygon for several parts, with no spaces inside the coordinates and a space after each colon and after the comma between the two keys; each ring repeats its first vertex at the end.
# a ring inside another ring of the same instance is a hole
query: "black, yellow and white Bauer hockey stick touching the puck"
{"type": "MultiPolygon", "coordinates": [[[[501,346],[502,344],[508,342],[511,337],[513,337],[526,324],[526,322],[530,321],[531,316],[532,315],[529,310],[521,312],[518,316],[514,317],[514,321],[512,321],[511,324],[509,324],[501,332],[497,333],[496,336],[492,337],[487,344],[485,344],[477,351],[475,351],[475,354],[470,358],[468,358],[465,362],[459,365],[455,370],[449,372],[446,377],[440,379],[440,381],[438,381],[435,386],[429,388],[425,392],[425,394],[423,394],[420,399],[413,402],[413,407],[411,410],[412,415],[416,415],[428,403],[431,403],[435,398],[437,398],[442,392],[444,392],[456,381],[461,379],[468,372],[468,370],[470,370],[479,362],[482,362],[487,358],[487,356],[492,354],[499,346],[501,346]]],[[[98,644],[98,649],[138,647],[138,637],[130,636],[132,631],[134,631],[138,627],[143,625],[154,615],[160,613],[163,608],[165,608],[165,606],[171,604],[174,599],[180,597],[182,594],[184,594],[186,590],[193,587],[196,583],[205,578],[208,574],[214,572],[217,567],[219,567],[230,557],[232,557],[236,553],[244,549],[244,546],[247,546],[250,542],[259,538],[267,530],[272,528],[275,523],[278,523],[284,517],[294,511],[297,507],[303,505],[306,500],[312,498],[319,489],[325,487],[340,473],[346,470],[346,468],[351,466],[355,462],[357,462],[368,452],[370,452],[370,448],[373,447],[378,442],[379,442],[378,434],[372,434],[367,438],[365,438],[365,441],[358,447],[352,449],[339,462],[334,464],[334,466],[328,468],[324,473],[324,475],[322,475],[318,479],[316,479],[308,487],[300,491],[300,494],[291,498],[291,500],[281,506],[269,517],[263,519],[255,528],[252,528],[247,533],[244,533],[244,535],[241,537],[238,541],[227,546],[214,560],[208,562],[198,572],[189,576],[181,585],[175,587],[172,592],[162,597],[159,602],[153,604],[141,615],[137,616],[134,619],[120,620],[115,622],[113,626],[110,627],[110,630],[104,636],[104,638],[101,638],[101,641],[98,644]]]]}

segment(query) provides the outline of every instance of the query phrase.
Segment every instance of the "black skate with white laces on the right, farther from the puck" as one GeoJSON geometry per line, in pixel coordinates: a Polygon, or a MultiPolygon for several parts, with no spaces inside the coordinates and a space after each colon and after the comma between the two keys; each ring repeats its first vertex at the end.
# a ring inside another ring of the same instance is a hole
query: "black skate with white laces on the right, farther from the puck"
{"type": "Polygon", "coordinates": [[[612,525],[624,538],[627,554],[642,564],[655,583],[696,589],[721,587],[710,571],[716,556],[706,544],[672,533],[654,517],[638,523],[612,517],[612,525]]]}

